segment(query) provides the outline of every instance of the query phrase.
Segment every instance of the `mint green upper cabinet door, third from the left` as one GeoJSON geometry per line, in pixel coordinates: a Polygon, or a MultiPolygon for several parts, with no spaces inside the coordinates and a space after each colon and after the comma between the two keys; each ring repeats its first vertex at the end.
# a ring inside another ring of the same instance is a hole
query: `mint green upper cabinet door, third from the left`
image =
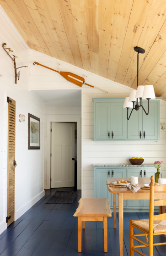
{"type": "MultiPolygon", "coordinates": [[[[129,115],[131,109],[129,109],[129,115]]],[[[131,117],[128,122],[128,139],[142,139],[142,108],[138,111],[133,110],[131,117]]]]}

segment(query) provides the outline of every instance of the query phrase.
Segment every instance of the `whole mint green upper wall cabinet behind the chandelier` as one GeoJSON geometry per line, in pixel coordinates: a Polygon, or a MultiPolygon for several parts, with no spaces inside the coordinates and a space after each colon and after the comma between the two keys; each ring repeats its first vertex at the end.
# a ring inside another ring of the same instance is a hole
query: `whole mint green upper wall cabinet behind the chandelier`
{"type": "MultiPolygon", "coordinates": [[[[159,141],[160,140],[160,100],[150,100],[147,116],[142,107],[133,110],[127,120],[123,108],[124,98],[93,98],[94,140],[95,141],[159,141]]],[[[143,100],[147,111],[147,100],[143,100]]],[[[131,109],[129,109],[129,114],[131,109]]]]}

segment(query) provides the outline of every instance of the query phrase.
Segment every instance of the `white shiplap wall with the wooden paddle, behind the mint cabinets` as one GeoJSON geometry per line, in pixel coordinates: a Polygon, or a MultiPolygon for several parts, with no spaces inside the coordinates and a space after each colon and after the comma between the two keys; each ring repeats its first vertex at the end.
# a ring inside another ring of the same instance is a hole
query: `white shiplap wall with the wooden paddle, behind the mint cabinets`
{"type": "MultiPolygon", "coordinates": [[[[145,163],[153,163],[155,160],[166,162],[166,129],[161,130],[159,142],[97,142],[93,140],[92,98],[124,98],[129,96],[131,88],[31,50],[31,89],[80,89],[59,76],[58,73],[37,65],[33,66],[34,61],[54,69],[58,69],[60,63],[62,71],[73,72],[80,76],[85,75],[87,83],[108,91],[108,94],[105,94],[85,85],[81,88],[83,197],[94,196],[93,163],[129,163],[131,156],[142,156],[145,158],[145,163]]],[[[161,100],[161,122],[166,123],[166,102],[163,100],[161,100]]],[[[161,170],[166,170],[166,164],[161,170]]]]}

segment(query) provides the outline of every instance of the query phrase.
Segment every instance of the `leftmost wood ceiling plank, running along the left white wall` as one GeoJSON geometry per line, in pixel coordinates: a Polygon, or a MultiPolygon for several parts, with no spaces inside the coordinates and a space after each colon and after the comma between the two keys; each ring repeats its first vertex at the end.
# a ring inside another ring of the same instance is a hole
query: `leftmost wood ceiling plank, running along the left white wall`
{"type": "Polygon", "coordinates": [[[4,11],[7,13],[8,17],[11,19],[11,21],[15,25],[16,29],[19,31],[19,33],[23,37],[23,39],[26,41],[27,45],[29,45],[31,49],[37,50],[35,46],[32,44],[27,34],[25,33],[25,31],[23,30],[23,28],[21,27],[20,23],[16,20],[16,17],[13,15],[13,13],[11,12],[10,8],[7,6],[5,1],[1,1],[0,4],[3,7],[4,11]]]}

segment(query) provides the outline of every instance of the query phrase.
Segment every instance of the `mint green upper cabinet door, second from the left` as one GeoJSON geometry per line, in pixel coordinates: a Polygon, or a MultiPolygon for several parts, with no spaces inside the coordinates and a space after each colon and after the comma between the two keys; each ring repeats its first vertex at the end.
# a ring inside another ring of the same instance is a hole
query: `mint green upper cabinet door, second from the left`
{"type": "Polygon", "coordinates": [[[111,139],[126,139],[126,109],[124,102],[111,102],[111,139]]]}

